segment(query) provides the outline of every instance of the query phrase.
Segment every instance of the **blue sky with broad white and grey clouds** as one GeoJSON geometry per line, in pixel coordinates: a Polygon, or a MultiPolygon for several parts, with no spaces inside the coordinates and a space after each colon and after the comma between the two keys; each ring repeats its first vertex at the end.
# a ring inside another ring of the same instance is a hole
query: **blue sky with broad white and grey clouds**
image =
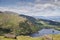
{"type": "Polygon", "coordinates": [[[0,0],[0,11],[29,16],[60,16],[60,0],[0,0]]]}

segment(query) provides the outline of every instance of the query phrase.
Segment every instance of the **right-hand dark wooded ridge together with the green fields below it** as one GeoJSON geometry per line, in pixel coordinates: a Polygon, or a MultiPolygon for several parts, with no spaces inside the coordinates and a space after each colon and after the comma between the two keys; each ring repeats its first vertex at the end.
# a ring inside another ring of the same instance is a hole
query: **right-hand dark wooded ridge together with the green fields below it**
{"type": "Polygon", "coordinates": [[[60,30],[60,22],[46,20],[46,19],[38,19],[38,24],[42,24],[41,28],[54,28],[60,30]]]}

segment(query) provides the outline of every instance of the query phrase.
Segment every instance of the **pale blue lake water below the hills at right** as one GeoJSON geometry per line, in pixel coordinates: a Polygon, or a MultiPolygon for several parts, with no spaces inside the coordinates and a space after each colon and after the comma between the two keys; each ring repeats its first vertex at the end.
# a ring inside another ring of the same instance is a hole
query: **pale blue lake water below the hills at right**
{"type": "Polygon", "coordinates": [[[30,34],[30,36],[38,37],[38,36],[43,36],[43,35],[48,35],[48,34],[60,34],[60,31],[55,30],[55,29],[42,29],[38,31],[37,33],[30,34]],[[52,31],[54,31],[54,33],[52,31]]]}

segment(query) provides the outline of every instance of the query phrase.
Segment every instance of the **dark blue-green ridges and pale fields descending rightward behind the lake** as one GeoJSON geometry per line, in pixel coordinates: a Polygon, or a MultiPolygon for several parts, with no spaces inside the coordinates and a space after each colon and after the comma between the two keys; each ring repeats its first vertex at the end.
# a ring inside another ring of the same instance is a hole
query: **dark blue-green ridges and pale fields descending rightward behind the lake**
{"type": "Polygon", "coordinates": [[[20,16],[27,18],[28,20],[35,23],[35,25],[38,26],[39,30],[43,28],[54,28],[54,29],[60,30],[60,22],[48,20],[48,19],[36,18],[36,17],[35,19],[34,17],[30,17],[26,15],[20,15],[20,16]]]}

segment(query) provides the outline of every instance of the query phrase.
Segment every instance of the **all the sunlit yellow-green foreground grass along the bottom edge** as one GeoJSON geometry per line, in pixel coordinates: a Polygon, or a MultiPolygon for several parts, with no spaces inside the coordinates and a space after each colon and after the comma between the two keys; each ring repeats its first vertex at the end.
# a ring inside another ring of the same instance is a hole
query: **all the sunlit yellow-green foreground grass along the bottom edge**
{"type": "MultiPolygon", "coordinates": [[[[47,35],[47,37],[51,37],[52,35],[47,35]]],[[[42,37],[30,37],[30,36],[18,36],[17,39],[11,39],[11,38],[4,38],[4,36],[0,36],[0,40],[48,40],[45,36],[42,37]]],[[[60,40],[60,34],[53,35],[53,40],[60,40]]]]}

